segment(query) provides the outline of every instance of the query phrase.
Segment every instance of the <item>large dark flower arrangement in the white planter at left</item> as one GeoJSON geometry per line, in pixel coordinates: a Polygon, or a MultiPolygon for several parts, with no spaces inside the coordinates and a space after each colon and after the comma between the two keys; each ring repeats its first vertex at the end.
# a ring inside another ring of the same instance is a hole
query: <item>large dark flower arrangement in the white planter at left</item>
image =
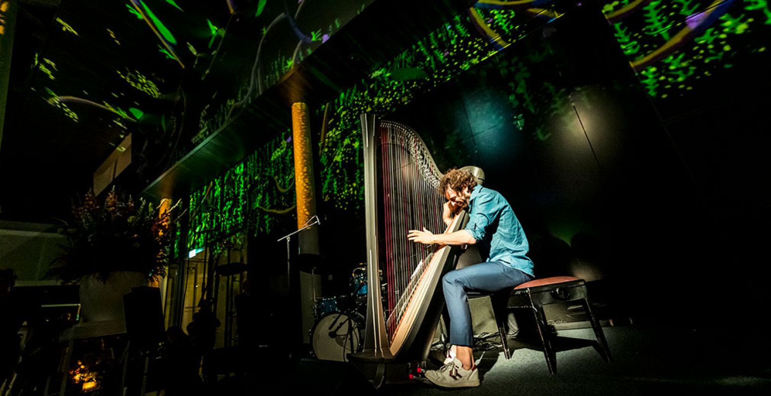
{"type": "Polygon", "coordinates": [[[138,204],[131,197],[120,200],[114,188],[100,205],[89,191],[72,206],[72,219],[62,220],[59,233],[68,243],[53,260],[49,277],[72,284],[92,274],[106,283],[114,271],[140,272],[148,280],[166,276],[177,205],[153,209],[142,199],[138,204]]]}

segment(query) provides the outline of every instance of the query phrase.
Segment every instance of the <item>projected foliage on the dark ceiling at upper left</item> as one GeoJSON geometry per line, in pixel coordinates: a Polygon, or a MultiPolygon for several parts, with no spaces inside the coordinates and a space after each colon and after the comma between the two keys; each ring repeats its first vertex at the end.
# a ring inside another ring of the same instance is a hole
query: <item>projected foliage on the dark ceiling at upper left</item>
{"type": "Polygon", "coordinates": [[[62,2],[29,59],[29,117],[105,145],[141,136],[136,175],[150,183],[371,1],[62,2]]]}

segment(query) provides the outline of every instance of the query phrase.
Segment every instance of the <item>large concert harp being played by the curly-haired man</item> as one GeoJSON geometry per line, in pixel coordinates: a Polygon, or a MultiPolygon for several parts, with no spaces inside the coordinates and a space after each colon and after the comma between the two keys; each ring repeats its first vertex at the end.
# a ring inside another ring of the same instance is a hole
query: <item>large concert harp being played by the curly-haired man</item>
{"type": "MultiPolygon", "coordinates": [[[[375,386],[406,381],[426,361],[444,306],[440,281],[463,253],[407,240],[409,230],[462,230],[462,211],[447,227],[443,176],[423,139],[409,126],[362,114],[367,239],[367,314],[364,348],[350,361],[375,386]],[[385,284],[383,287],[377,287],[385,284]],[[406,371],[405,371],[406,370],[406,371]]],[[[466,167],[478,180],[479,168],[466,167]]],[[[481,181],[481,180],[480,180],[481,181]]]]}

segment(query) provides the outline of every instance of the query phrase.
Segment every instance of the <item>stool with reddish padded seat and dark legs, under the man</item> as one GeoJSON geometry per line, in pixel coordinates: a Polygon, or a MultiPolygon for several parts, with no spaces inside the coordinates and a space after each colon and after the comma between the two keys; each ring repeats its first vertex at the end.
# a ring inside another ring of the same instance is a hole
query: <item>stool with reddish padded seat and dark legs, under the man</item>
{"type": "MultiPolygon", "coordinates": [[[[586,284],[583,279],[576,277],[549,277],[544,279],[530,280],[517,287],[514,287],[510,294],[507,308],[529,308],[535,317],[540,341],[544,346],[544,357],[549,366],[549,372],[557,372],[557,351],[554,348],[554,336],[549,329],[549,325],[544,313],[544,306],[559,302],[577,303],[584,307],[589,318],[591,328],[594,330],[594,336],[597,337],[599,352],[605,361],[611,361],[611,351],[608,348],[608,341],[605,340],[605,334],[599,320],[594,317],[589,303],[589,297],[586,292],[586,284]]],[[[505,334],[502,333],[502,336],[505,334]]],[[[502,338],[505,340],[505,338],[502,338]]],[[[507,357],[508,348],[504,344],[504,353],[507,357]]]]}

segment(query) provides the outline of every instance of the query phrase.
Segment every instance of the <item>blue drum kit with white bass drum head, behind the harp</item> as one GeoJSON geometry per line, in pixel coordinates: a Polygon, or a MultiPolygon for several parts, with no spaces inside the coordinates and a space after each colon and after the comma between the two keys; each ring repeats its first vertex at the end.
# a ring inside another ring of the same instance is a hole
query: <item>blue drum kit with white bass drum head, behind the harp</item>
{"type": "Polygon", "coordinates": [[[360,352],[364,347],[366,267],[353,270],[348,287],[348,294],[315,299],[311,346],[319,359],[348,361],[348,354],[360,352]]]}

